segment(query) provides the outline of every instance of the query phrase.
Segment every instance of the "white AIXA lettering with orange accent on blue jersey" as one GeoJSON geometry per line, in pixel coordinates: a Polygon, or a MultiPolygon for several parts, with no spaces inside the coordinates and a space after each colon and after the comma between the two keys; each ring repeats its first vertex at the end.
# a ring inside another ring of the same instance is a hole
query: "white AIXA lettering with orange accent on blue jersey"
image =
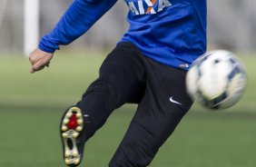
{"type": "Polygon", "coordinates": [[[172,5],[170,0],[137,0],[127,4],[134,15],[156,14],[172,5]]]}

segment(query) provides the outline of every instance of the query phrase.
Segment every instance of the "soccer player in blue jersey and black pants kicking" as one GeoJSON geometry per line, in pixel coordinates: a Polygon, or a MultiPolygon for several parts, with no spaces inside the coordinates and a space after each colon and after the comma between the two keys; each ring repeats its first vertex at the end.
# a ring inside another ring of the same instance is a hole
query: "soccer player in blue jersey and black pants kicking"
{"type": "MultiPolygon", "coordinates": [[[[84,34],[115,2],[74,0],[29,55],[31,73],[47,66],[59,45],[84,34]]],[[[206,0],[125,2],[129,30],[107,55],[81,101],[61,120],[64,162],[69,166],[82,161],[84,142],[124,103],[138,103],[138,108],[109,166],[148,166],[192,106],[185,75],[206,51],[206,0]]]]}

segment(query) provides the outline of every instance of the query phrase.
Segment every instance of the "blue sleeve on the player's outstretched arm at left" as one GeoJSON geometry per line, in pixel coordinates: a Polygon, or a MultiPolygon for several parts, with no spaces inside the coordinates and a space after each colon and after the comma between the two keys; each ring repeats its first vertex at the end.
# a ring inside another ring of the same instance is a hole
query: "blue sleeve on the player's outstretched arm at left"
{"type": "Polygon", "coordinates": [[[117,0],[74,0],[52,32],[45,34],[38,47],[54,53],[59,45],[72,43],[104,15],[117,0]]]}

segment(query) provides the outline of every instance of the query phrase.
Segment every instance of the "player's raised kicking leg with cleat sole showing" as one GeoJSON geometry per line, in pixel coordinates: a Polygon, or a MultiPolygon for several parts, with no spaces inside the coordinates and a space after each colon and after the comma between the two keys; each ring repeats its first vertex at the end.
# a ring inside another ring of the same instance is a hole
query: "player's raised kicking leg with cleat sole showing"
{"type": "Polygon", "coordinates": [[[144,93],[143,65],[129,44],[118,45],[100,68],[82,100],[69,108],[61,123],[64,161],[76,166],[81,162],[86,142],[114,109],[123,103],[139,103],[144,93]]]}

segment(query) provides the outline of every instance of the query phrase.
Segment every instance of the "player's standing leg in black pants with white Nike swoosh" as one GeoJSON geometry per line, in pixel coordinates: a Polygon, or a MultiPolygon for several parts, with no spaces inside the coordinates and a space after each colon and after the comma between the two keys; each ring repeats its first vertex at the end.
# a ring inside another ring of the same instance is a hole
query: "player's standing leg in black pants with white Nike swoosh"
{"type": "Polygon", "coordinates": [[[185,91],[186,73],[155,64],[149,61],[151,69],[147,68],[143,101],[109,164],[111,167],[148,166],[192,105],[185,91]]]}

